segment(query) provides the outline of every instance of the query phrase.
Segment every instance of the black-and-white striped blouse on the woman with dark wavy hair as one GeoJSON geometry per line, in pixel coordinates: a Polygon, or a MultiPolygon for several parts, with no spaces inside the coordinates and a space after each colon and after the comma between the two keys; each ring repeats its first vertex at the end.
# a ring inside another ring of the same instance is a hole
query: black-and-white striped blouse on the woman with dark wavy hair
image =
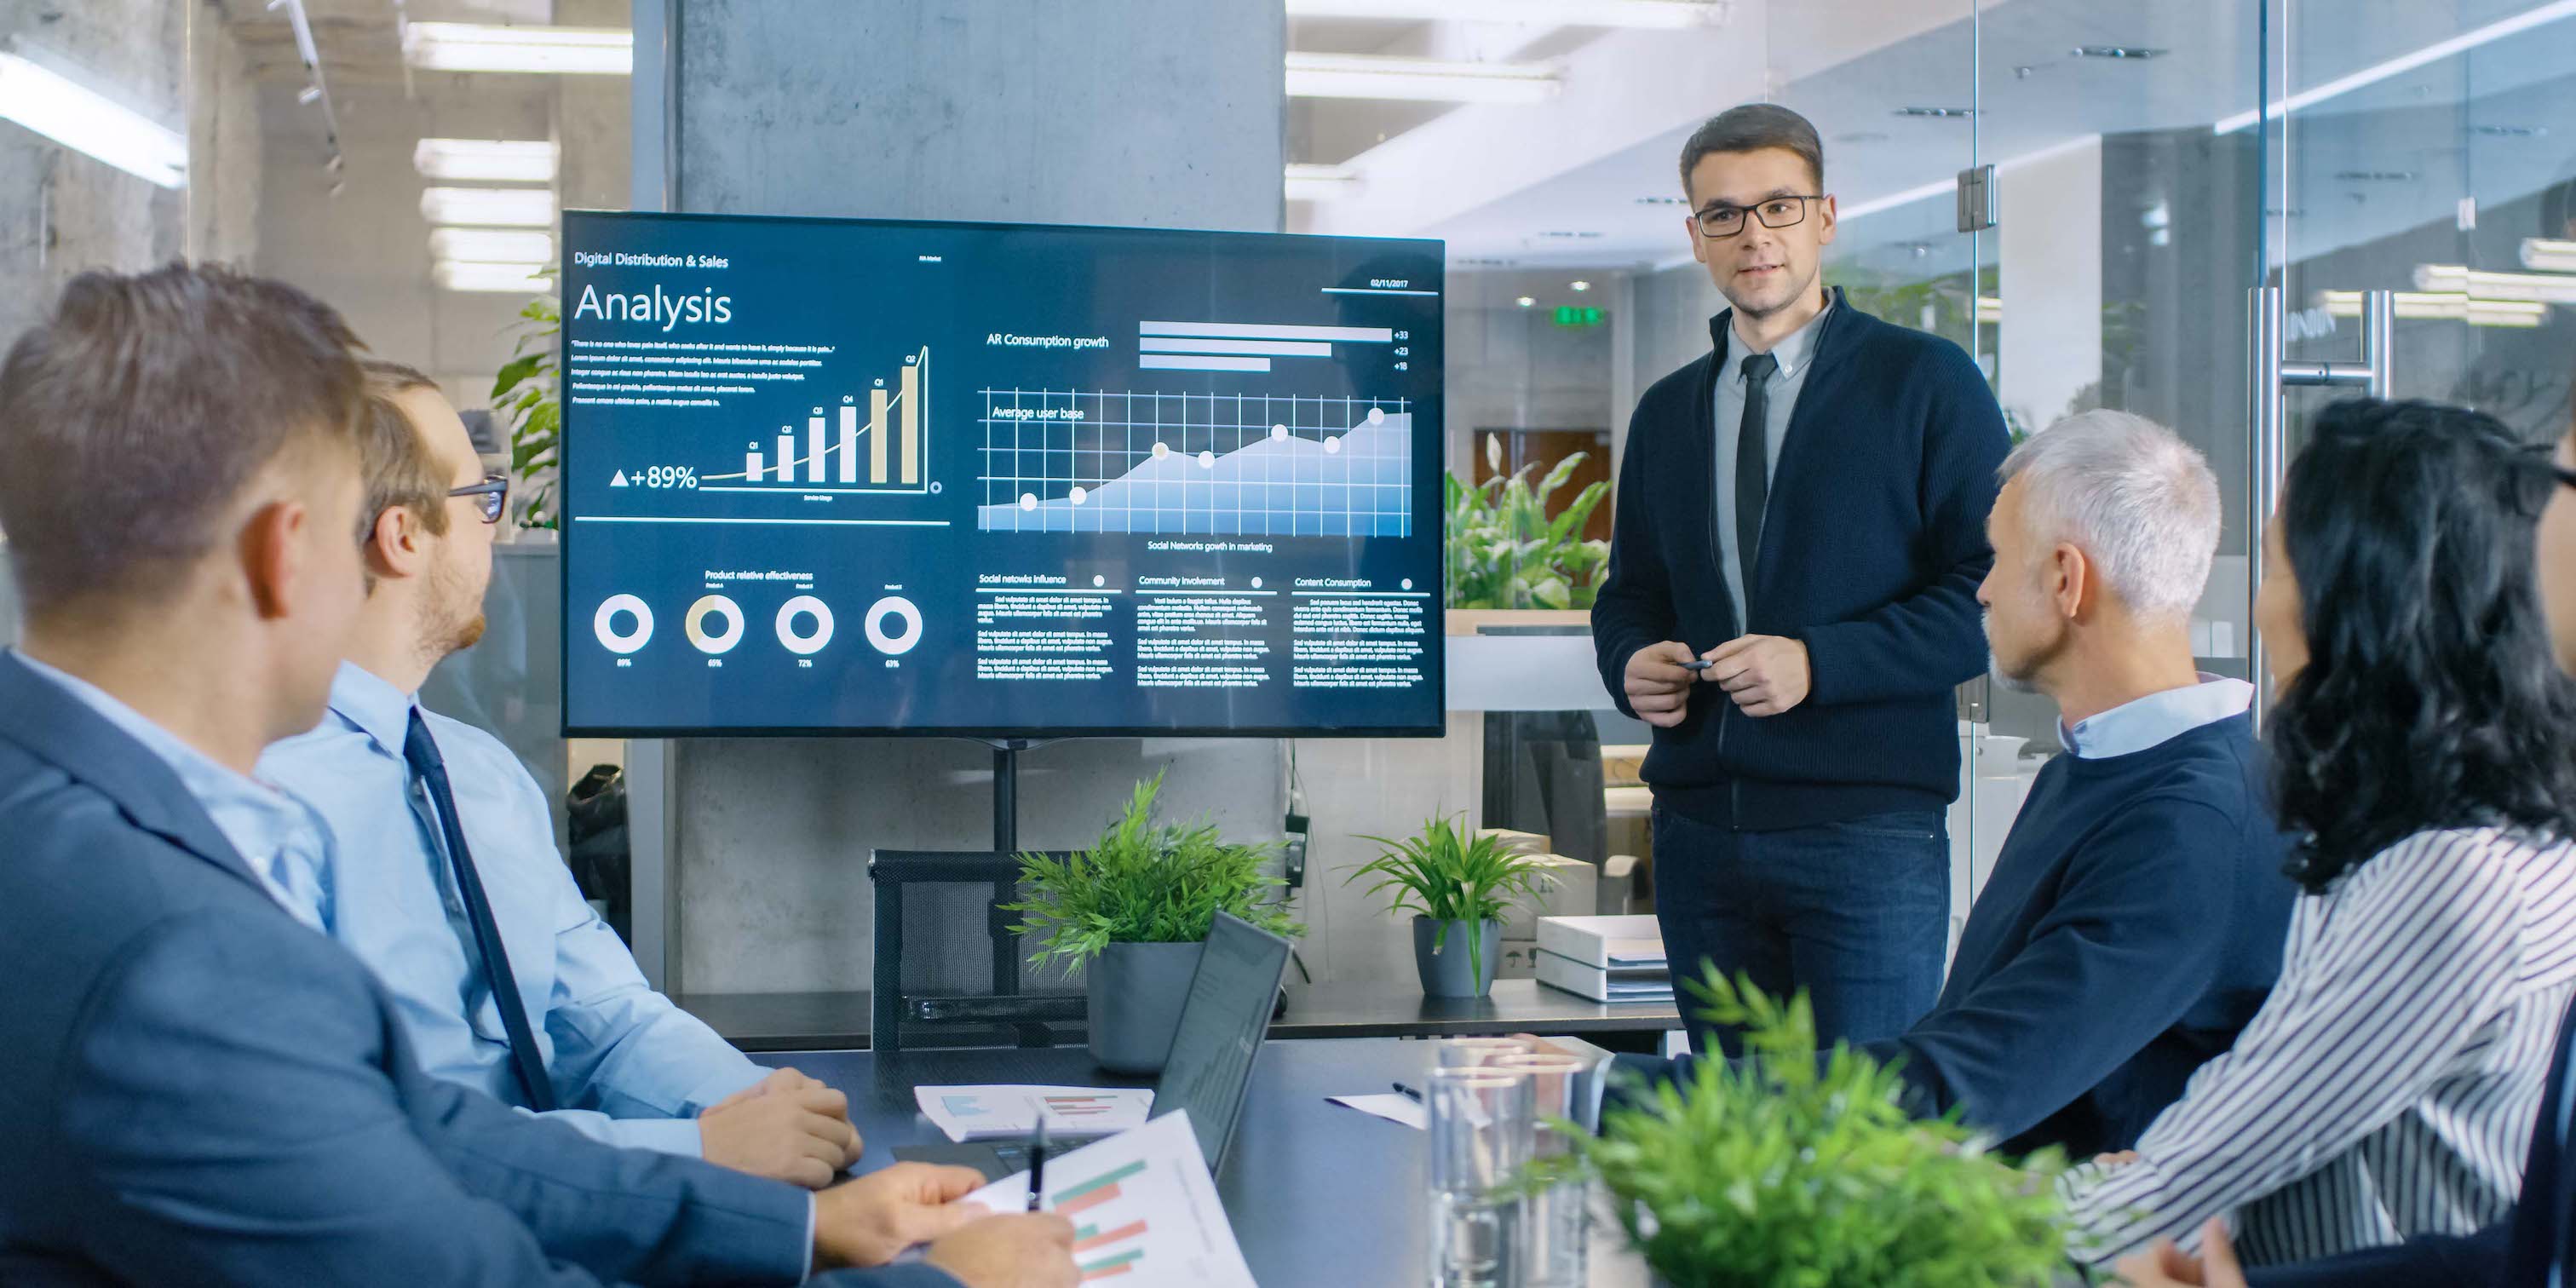
{"type": "Polygon", "coordinates": [[[2416,832],[2290,914],[2280,984],[2156,1115],[2061,1182],[2076,1260],[2233,1213],[2249,1265],[2468,1234],[2522,1190],[2576,992],[2576,848],[2416,832]]]}

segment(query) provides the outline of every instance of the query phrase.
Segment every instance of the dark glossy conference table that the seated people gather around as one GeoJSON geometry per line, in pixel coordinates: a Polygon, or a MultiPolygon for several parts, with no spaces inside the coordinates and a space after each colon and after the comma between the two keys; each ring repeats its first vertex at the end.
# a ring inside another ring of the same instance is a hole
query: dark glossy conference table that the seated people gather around
{"type": "MultiPolygon", "coordinates": [[[[850,1121],[866,1139],[858,1172],[891,1164],[896,1146],[945,1141],[920,1115],[914,1084],[1151,1084],[1100,1072],[1079,1046],[886,1056],[775,1051],[752,1059],[793,1064],[850,1097],[850,1121]]],[[[1425,1133],[1324,1097],[1419,1082],[1430,1059],[1430,1043],[1399,1038],[1262,1043],[1242,1126],[1216,1172],[1255,1280],[1265,1288],[1409,1288],[1427,1280],[1425,1133]]],[[[1646,1262],[1625,1252],[1618,1226],[1597,1224],[1589,1288],[1646,1283],[1646,1262]]]]}

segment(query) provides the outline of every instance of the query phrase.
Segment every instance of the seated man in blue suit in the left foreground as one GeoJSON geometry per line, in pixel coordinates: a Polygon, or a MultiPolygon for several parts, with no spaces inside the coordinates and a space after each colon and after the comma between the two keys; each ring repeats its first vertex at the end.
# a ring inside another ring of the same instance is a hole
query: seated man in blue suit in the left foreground
{"type": "Polygon", "coordinates": [[[956,1206],[969,1170],[806,1195],[435,1082],[286,912],[312,819],[250,770],[361,595],[350,345],[173,265],[77,278],[0,366],[0,1280],[1072,1285],[1072,1229],[956,1206]]]}

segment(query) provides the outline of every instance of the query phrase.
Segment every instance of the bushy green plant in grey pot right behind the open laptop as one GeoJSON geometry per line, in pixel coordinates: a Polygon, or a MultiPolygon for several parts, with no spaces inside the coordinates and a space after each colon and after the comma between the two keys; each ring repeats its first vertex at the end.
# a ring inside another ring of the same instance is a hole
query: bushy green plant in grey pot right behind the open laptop
{"type": "Polygon", "coordinates": [[[1020,855],[1012,930],[1038,938],[1038,961],[1082,969],[1092,1059],[1115,1074],[1154,1074],[1172,1054],[1180,1005],[1218,912],[1278,935],[1303,933],[1267,894],[1270,845],[1236,845],[1216,824],[1157,822],[1162,773],[1136,783],[1126,811],[1090,850],[1020,855]]]}

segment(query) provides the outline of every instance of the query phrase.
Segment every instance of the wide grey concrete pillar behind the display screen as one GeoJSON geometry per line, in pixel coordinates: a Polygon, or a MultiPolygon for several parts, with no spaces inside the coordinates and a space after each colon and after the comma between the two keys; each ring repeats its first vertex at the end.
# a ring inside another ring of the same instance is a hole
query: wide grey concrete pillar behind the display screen
{"type": "MultiPolygon", "coordinates": [[[[1278,0],[675,0],[672,26],[683,211],[1280,227],[1278,0]]],[[[672,760],[672,989],[866,989],[868,850],[992,840],[969,742],[672,760]]],[[[1278,742],[1110,739],[1023,757],[1023,845],[1084,842],[1157,768],[1175,814],[1278,835],[1278,742]]]]}

